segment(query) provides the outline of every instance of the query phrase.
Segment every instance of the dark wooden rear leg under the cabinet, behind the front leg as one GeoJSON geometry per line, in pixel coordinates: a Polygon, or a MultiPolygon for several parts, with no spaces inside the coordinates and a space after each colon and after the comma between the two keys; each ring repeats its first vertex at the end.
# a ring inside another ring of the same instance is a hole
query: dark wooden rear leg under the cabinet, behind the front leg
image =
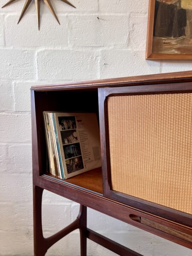
{"type": "Polygon", "coordinates": [[[87,207],[80,205],[79,211],[80,219],[80,243],[81,243],[81,256],[87,256],[87,207]]]}

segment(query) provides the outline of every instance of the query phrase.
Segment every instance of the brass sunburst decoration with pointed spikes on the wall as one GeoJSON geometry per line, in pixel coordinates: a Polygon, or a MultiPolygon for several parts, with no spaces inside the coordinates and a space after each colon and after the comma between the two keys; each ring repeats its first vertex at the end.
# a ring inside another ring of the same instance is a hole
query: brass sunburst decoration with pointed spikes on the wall
{"type": "MultiPolygon", "coordinates": [[[[16,0],[9,0],[6,4],[4,4],[4,6],[2,6],[2,8],[8,6],[9,4],[11,4],[11,3],[15,2],[15,1],[16,1],[16,0]]],[[[55,19],[57,20],[57,22],[59,23],[58,17],[57,17],[57,15],[55,14],[55,11],[54,11],[54,9],[53,9],[53,7],[52,7],[52,4],[51,4],[50,0],[43,0],[43,1],[44,1],[44,3],[47,5],[47,7],[49,8],[49,10],[52,12],[52,15],[55,17],[55,19]]],[[[68,5],[70,5],[70,6],[74,7],[74,8],[76,8],[75,6],[73,6],[72,3],[70,3],[70,2],[67,1],[67,0],[61,0],[61,1],[64,2],[64,3],[67,3],[68,5]]],[[[24,6],[23,6],[23,10],[22,10],[22,12],[21,12],[21,14],[20,14],[20,17],[19,17],[19,20],[18,20],[17,24],[18,24],[18,23],[20,22],[20,20],[22,19],[24,13],[26,12],[26,9],[29,7],[29,4],[30,4],[31,2],[32,2],[32,0],[26,0],[26,1],[25,1],[25,4],[24,4],[24,6]]],[[[40,27],[40,6],[41,6],[41,0],[35,0],[35,9],[36,9],[37,20],[38,20],[38,29],[39,29],[39,27],[40,27]]],[[[59,23],[59,25],[60,25],[60,23],[59,23]]]]}

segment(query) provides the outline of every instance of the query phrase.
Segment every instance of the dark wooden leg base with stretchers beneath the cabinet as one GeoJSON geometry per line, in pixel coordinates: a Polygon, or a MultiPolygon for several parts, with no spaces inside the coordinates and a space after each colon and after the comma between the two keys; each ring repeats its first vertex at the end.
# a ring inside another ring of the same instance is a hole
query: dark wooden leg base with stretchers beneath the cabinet
{"type": "Polygon", "coordinates": [[[81,256],[87,256],[87,238],[117,253],[120,256],[142,256],[108,239],[93,230],[87,229],[87,207],[80,205],[79,215],[70,225],[60,230],[58,233],[44,238],[42,229],[42,195],[44,189],[33,186],[33,225],[34,225],[34,255],[45,256],[47,250],[57,241],[67,236],[73,230],[80,230],[81,256]]]}

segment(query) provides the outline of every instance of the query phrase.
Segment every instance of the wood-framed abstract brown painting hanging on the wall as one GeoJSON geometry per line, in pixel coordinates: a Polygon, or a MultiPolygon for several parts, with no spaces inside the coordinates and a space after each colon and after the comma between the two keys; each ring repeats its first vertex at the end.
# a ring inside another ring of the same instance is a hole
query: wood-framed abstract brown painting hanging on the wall
{"type": "Polygon", "coordinates": [[[149,0],[146,59],[192,60],[192,0],[149,0]]]}

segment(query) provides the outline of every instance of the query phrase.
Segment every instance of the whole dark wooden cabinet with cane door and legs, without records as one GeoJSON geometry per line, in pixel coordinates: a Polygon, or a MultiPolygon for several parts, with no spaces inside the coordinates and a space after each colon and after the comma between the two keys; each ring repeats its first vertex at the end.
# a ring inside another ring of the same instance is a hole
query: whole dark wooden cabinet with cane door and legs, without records
{"type": "Polygon", "coordinates": [[[192,71],[33,86],[34,251],[80,230],[122,256],[139,256],[87,228],[87,207],[192,248],[192,71]],[[47,173],[43,111],[94,112],[102,168],[61,180],[47,173]],[[44,238],[43,190],[80,204],[76,221],[44,238]]]}

